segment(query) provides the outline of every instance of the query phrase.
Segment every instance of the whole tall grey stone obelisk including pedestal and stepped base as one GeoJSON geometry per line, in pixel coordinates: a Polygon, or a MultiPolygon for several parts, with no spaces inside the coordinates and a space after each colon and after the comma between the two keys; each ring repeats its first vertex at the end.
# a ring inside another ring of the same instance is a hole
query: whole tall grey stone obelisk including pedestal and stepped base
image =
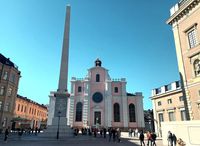
{"type": "Polygon", "coordinates": [[[49,95],[47,129],[44,134],[41,135],[45,137],[55,137],[56,134],[57,138],[59,136],[66,137],[70,136],[72,133],[71,128],[67,126],[68,102],[70,97],[67,90],[69,31],[70,5],[67,5],[58,89],[57,91],[51,91],[49,95]]]}

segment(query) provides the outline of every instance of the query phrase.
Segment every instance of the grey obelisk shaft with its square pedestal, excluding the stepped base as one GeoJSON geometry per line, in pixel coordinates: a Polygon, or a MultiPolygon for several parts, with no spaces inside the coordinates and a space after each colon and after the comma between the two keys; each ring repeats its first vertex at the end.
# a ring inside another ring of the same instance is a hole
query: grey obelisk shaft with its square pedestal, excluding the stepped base
{"type": "Polygon", "coordinates": [[[68,5],[67,10],[66,10],[58,90],[57,92],[54,93],[54,96],[56,97],[54,117],[60,116],[61,118],[62,117],[66,118],[67,99],[69,97],[69,93],[67,90],[68,58],[69,58],[69,30],[70,30],[70,6],[68,5]]]}

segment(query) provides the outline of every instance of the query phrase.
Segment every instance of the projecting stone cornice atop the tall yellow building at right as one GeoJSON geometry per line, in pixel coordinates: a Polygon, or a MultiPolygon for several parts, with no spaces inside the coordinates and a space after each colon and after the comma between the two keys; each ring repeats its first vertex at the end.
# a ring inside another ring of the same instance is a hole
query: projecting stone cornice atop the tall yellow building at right
{"type": "Polygon", "coordinates": [[[167,24],[172,25],[174,22],[179,21],[190,10],[200,3],[200,0],[188,0],[182,5],[179,5],[179,9],[167,20],[167,24]]]}

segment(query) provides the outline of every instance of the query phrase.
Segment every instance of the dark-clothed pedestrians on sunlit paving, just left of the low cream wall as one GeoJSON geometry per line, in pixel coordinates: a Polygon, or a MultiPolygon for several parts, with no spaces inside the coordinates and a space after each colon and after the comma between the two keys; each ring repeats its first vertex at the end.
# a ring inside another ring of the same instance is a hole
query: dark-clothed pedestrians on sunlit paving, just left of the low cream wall
{"type": "MultiPolygon", "coordinates": [[[[147,131],[147,146],[156,146],[156,134],[154,132],[149,132],[147,131]]],[[[144,145],[145,146],[145,143],[144,143],[144,133],[143,131],[140,132],[140,136],[139,136],[139,139],[140,139],[140,145],[144,145]]]]}

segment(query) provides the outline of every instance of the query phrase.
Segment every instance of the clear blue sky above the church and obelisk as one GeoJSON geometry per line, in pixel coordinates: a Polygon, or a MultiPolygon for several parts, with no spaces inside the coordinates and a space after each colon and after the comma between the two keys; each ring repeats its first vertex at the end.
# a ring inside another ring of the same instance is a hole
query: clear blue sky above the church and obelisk
{"type": "Polygon", "coordinates": [[[143,92],[179,79],[172,29],[178,0],[0,0],[0,53],[21,71],[18,94],[49,102],[58,87],[66,5],[71,5],[69,82],[85,77],[97,57],[127,91],[143,92]]]}

